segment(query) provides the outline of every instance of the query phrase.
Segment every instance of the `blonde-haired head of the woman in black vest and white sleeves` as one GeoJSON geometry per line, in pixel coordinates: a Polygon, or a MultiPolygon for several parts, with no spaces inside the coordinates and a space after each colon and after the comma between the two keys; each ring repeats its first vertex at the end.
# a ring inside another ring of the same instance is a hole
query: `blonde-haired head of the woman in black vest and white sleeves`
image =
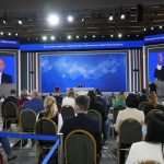
{"type": "Polygon", "coordinates": [[[58,107],[56,104],[56,98],[52,96],[47,96],[45,98],[44,107],[46,110],[45,117],[52,118],[58,114],[58,107]]]}

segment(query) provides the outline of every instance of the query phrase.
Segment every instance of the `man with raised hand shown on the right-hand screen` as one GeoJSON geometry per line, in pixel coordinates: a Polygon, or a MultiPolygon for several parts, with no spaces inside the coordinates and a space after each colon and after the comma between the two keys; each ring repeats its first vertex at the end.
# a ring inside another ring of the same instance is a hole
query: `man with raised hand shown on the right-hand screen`
{"type": "Polygon", "coordinates": [[[154,77],[159,81],[164,81],[164,66],[163,66],[163,56],[162,56],[162,54],[159,54],[157,59],[159,59],[159,63],[155,68],[154,77]]]}

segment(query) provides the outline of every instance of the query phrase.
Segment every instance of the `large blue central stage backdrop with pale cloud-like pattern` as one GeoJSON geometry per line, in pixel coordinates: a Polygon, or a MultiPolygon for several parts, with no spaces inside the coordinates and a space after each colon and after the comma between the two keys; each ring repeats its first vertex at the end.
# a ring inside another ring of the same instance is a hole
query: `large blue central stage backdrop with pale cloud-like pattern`
{"type": "Polygon", "coordinates": [[[99,87],[103,92],[126,91],[126,54],[40,55],[43,93],[59,86],[99,87]]]}

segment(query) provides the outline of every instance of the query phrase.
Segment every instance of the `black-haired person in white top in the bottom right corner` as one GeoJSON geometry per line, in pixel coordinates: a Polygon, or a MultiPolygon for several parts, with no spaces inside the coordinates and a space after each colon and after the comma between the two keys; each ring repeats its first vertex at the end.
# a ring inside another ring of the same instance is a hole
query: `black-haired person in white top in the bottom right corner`
{"type": "Polygon", "coordinates": [[[131,145],[126,164],[155,161],[164,164],[164,113],[152,110],[145,117],[144,141],[131,145]]]}

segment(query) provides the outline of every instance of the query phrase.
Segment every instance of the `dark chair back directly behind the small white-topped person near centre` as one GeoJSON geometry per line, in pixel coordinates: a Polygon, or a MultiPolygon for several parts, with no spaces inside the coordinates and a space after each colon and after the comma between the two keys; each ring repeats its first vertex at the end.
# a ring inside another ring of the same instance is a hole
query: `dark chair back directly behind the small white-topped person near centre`
{"type": "Polygon", "coordinates": [[[70,106],[70,105],[62,106],[61,116],[62,116],[63,120],[66,118],[72,117],[74,115],[75,115],[75,113],[74,113],[74,109],[72,106],[70,106]]]}

